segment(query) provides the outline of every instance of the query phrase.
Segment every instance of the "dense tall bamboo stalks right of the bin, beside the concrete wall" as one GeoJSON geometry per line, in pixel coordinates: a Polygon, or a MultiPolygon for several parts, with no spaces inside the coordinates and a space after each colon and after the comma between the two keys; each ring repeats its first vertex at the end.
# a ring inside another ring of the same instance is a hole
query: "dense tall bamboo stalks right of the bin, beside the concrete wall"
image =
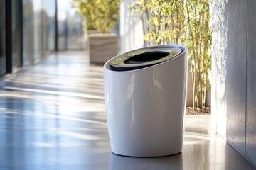
{"type": "Polygon", "coordinates": [[[206,106],[211,66],[209,1],[190,0],[184,5],[184,44],[188,47],[188,64],[193,80],[193,108],[203,108],[206,106]]]}

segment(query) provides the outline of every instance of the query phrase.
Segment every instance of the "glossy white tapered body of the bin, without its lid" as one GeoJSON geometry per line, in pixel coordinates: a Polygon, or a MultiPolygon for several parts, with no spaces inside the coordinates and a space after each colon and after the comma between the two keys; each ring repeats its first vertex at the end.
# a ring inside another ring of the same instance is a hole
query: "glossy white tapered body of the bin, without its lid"
{"type": "Polygon", "coordinates": [[[182,151],[186,106],[186,47],[166,62],[132,71],[104,66],[105,106],[112,152],[159,157],[182,151]]]}

